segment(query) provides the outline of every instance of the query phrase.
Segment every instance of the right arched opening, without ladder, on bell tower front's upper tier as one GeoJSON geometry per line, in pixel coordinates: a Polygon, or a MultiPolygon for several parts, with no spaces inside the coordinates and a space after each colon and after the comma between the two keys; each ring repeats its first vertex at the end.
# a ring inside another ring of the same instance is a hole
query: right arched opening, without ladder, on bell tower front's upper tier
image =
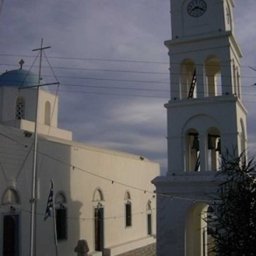
{"type": "Polygon", "coordinates": [[[214,97],[222,95],[220,59],[209,56],[205,61],[206,95],[214,97]]]}

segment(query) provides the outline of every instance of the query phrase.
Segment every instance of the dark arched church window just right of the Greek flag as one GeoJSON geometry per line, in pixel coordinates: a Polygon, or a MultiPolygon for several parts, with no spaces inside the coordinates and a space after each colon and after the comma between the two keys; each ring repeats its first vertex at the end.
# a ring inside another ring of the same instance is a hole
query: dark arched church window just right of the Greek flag
{"type": "Polygon", "coordinates": [[[63,191],[59,191],[55,196],[56,205],[56,231],[58,240],[68,239],[68,210],[67,199],[63,191]]]}

